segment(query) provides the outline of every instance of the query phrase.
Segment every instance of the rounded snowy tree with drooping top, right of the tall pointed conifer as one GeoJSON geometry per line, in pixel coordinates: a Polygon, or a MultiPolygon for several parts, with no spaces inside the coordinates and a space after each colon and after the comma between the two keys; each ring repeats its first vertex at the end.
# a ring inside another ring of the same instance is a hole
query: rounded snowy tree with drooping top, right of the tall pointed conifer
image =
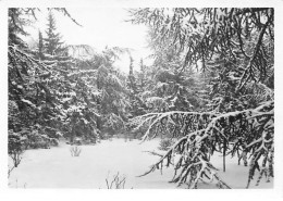
{"type": "MultiPolygon", "coordinates": [[[[82,47],[81,47],[82,48],[82,47]]],[[[85,87],[91,90],[84,90],[91,99],[88,101],[89,108],[96,111],[95,124],[100,137],[103,134],[114,134],[123,130],[128,116],[130,102],[126,90],[126,76],[123,75],[115,66],[114,61],[120,54],[127,52],[122,48],[106,48],[101,53],[96,53],[90,47],[85,47],[85,53],[89,56],[76,59],[76,67],[79,72],[85,72],[84,76],[79,75],[79,79],[84,79],[85,87]]],[[[72,52],[74,49],[72,48],[72,52]]],[[[87,97],[87,96],[84,96],[87,97]]]]}

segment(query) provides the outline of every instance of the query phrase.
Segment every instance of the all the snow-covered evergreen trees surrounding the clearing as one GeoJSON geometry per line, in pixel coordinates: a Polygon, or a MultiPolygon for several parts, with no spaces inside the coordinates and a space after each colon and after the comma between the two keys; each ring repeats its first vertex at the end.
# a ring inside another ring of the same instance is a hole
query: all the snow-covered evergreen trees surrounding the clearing
{"type": "Polygon", "coordinates": [[[173,165],[177,185],[214,180],[230,188],[210,162],[217,152],[223,169],[227,155],[249,166],[247,188],[257,169],[257,185],[274,176],[273,9],[131,9],[131,22],[149,28],[155,61],[146,66],[140,60],[135,71],[130,56],[127,76],[114,62],[131,55],[128,49],[97,53],[66,45],[53,12],[77,22],[65,9],[48,10],[47,29],[30,48],[25,27],[39,10],[9,9],[8,153],[14,167],[26,149],[48,149],[60,137],[96,143],[134,128],[143,140],[164,138],[165,153],[155,153],[160,160],[142,176],[173,165]]]}

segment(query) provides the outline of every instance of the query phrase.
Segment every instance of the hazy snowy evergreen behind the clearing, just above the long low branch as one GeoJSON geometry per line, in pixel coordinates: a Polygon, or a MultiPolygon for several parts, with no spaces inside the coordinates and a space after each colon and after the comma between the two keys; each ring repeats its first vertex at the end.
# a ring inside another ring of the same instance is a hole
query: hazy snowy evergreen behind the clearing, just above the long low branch
{"type": "Polygon", "coordinates": [[[208,100],[202,93],[208,93],[201,72],[187,67],[180,72],[184,63],[181,51],[171,46],[172,38],[158,40],[153,27],[149,32],[149,47],[153,60],[151,83],[147,86],[144,98],[149,108],[156,111],[200,110],[208,100]],[[160,106],[162,105],[162,108],[160,106]]]}

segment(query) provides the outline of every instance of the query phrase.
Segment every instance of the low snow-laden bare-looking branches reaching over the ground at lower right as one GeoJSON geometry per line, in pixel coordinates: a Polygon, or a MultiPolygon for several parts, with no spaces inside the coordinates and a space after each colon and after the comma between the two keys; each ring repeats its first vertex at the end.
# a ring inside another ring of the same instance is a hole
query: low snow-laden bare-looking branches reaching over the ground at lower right
{"type": "MultiPolygon", "coordinates": [[[[261,156],[266,156],[269,165],[260,175],[273,176],[273,131],[274,102],[264,102],[256,109],[236,111],[224,114],[197,112],[165,112],[149,113],[131,121],[136,128],[147,125],[144,140],[152,139],[164,130],[179,140],[150,166],[145,176],[156,169],[172,165],[171,160],[180,158],[174,165],[175,174],[172,179],[179,185],[187,184],[188,188],[197,188],[199,181],[216,179],[219,188],[230,188],[217,174],[209,162],[213,152],[223,152],[223,147],[232,156],[243,151],[251,156],[247,188],[258,167],[261,156]],[[267,171],[268,168],[268,171],[267,171]]],[[[237,155],[241,158],[241,154],[237,155]]]]}

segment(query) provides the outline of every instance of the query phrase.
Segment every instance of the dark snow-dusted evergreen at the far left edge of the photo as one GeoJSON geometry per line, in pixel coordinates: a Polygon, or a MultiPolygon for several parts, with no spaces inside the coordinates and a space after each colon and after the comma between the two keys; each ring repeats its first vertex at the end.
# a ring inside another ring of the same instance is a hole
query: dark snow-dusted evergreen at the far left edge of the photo
{"type": "MultiPolygon", "coordinates": [[[[70,16],[65,9],[54,10],[70,16]]],[[[62,97],[58,91],[69,83],[70,71],[64,70],[70,62],[46,53],[40,33],[35,50],[22,39],[28,35],[25,27],[36,20],[37,11],[9,9],[9,134],[23,139],[25,145],[21,149],[58,143],[63,123],[60,117],[62,97]]]]}

